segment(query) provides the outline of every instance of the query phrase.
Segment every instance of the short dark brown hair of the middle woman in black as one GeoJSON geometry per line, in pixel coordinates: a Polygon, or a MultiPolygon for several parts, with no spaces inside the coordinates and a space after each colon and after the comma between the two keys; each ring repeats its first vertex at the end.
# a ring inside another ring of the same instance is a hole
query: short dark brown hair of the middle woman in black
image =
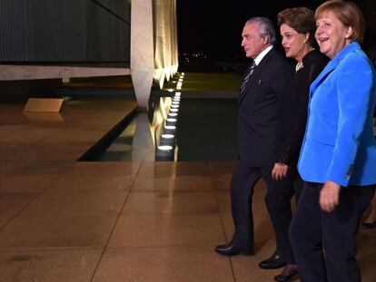
{"type": "Polygon", "coordinates": [[[316,20],[312,10],[306,7],[284,9],[277,15],[278,25],[287,24],[299,34],[309,34],[308,43],[314,45],[314,33],[316,31],[316,20]]]}

